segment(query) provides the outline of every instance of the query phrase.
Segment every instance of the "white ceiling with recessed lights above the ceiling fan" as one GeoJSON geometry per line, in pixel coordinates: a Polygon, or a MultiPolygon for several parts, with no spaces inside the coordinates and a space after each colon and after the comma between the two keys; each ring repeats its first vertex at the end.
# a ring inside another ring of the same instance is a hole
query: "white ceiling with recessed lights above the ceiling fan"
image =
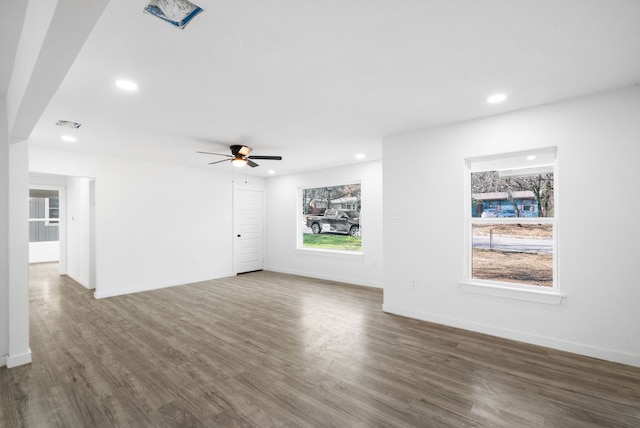
{"type": "Polygon", "coordinates": [[[640,82],[638,0],[196,0],[184,30],[146,3],[111,0],[31,143],[220,170],[195,151],[240,143],[284,157],[251,173],[286,174],[379,159],[388,135],[640,82]],[[495,92],[509,98],[488,105],[495,92]]]}

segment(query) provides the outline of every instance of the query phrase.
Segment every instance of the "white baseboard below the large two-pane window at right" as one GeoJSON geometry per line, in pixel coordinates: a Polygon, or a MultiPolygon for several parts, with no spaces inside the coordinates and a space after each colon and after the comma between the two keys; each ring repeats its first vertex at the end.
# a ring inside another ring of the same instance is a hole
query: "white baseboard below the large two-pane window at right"
{"type": "Polygon", "coordinates": [[[388,304],[383,304],[382,310],[390,314],[401,315],[404,317],[415,318],[423,321],[433,322],[436,324],[475,331],[477,333],[488,334],[490,336],[501,337],[504,339],[517,340],[519,342],[558,349],[560,351],[567,351],[587,357],[599,358],[601,360],[612,361],[614,363],[640,367],[640,355],[627,354],[612,349],[604,349],[551,337],[538,336],[522,331],[509,330],[502,327],[495,327],[455,318],[442,317],[440,315],[415,311],[413,309],[388,304]]]}

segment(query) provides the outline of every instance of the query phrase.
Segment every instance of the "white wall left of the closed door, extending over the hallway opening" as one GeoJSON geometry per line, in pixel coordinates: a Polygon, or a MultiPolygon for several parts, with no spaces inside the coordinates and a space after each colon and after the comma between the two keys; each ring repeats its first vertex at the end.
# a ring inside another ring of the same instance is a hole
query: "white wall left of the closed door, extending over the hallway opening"
{"type": "Polygon", "coordinates": [[[232,274],[229,173],[38,146],[30,168],[95,177],[96,297],[232,274]]]}

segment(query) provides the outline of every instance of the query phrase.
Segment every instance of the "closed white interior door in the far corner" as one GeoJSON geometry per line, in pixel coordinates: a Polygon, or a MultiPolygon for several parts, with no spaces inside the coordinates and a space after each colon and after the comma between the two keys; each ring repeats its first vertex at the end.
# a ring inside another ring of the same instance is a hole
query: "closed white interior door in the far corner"
{"type": "Polygon", "coordinates": [[[264,268],[264,192],[234,189],[234,267],[236,273],[264,268]]]}

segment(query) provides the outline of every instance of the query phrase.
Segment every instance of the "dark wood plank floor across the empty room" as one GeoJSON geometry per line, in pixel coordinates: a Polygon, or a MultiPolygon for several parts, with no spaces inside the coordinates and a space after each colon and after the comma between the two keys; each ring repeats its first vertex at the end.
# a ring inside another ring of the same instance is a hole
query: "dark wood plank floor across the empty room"
{"type": "Polygon", "coordinates": [[[256,272],[95,300],[31,268],[2,427],[640,427],[640,369],[385,314],[256,272]]]}

